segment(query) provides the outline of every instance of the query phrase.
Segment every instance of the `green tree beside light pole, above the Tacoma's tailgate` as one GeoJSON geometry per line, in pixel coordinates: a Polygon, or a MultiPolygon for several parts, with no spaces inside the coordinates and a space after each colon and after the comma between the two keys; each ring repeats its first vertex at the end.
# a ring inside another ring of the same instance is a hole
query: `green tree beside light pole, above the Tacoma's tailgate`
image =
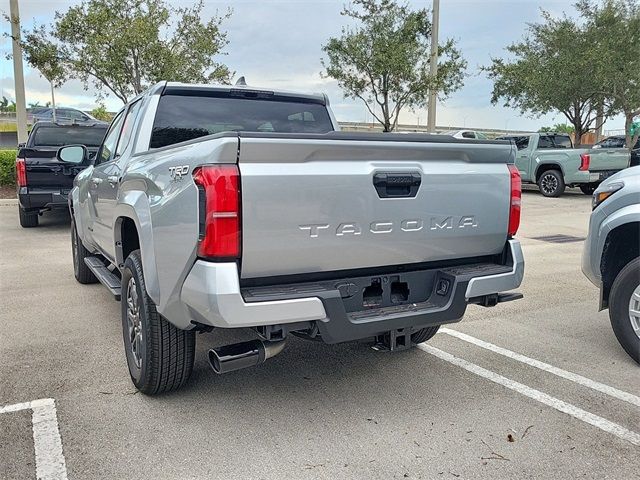
{"type": "Polygon", "coordinates": [[[440,99],[462,86],[467,62],[453,40],[438,47],[438,75],[429,74],[431,22],[426,9],[393,0],[354,0],[342,15],[357,21],[322,47],[323,74],[338,81],[349,98],[361,99],[371,115],[392,131],[403,108],[427,105],[429,89],[440,99]]]}

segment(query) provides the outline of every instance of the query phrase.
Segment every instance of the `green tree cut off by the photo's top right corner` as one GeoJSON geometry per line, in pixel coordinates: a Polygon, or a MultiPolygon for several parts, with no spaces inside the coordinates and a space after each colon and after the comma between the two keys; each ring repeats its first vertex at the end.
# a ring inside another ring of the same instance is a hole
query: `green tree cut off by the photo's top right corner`
{"type": "Polygon", "coordinates": [[[598,83],[612,111],[624,115],[628,148],[640,137],[633,129],[640,116],[640,2],[581,0],[576,5],[592,39],[589,55],[598,83]]]}

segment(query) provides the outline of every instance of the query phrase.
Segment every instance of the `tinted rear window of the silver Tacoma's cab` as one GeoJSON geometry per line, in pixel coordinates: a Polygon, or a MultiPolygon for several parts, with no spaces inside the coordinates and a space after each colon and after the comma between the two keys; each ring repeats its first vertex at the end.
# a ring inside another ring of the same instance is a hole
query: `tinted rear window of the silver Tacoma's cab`
{"type": "Polygon", "coordinates": [[[327,133],[333,131],[324,105],[240,97],[164,95],[153,123],[150,148],[220,132],[327,133]]]}

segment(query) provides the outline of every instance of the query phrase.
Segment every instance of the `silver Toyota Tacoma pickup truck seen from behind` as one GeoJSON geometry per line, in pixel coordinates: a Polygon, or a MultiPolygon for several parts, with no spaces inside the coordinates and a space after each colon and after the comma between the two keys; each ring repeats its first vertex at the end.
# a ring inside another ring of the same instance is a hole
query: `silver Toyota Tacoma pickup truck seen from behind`
{"type": "Polygon", "coordinates": [[[248,87],[163,82],[116,115],[69,195],[73,263],[122,298],[140,391],[184,384],[196,332],[255,331],[209,351],[224,373],[289,334],[398,350],[521,297],[514,146],[336,129],[326,96],[248,87]]]}

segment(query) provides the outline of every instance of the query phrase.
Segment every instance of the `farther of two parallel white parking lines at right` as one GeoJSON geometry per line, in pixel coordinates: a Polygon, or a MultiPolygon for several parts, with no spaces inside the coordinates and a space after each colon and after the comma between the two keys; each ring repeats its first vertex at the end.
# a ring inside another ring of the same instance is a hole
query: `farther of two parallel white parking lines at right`
{"type": "Polygon", "coordinates": [[[497,345],[494,345],[493,343],[485,342],[484,340],[480,340],[479,338],[472,337],[471,335],[467,335],[466,333],[458,332],[457,330],[451,330],[450,328],[442,328],[440,329],[440,331],[442,333],[446,333],[447,335],[451,335],[452,337],[456,337],[456,338],[459,338],[460,340],[464,340],[465,342],[469,342],[474,345],[477,345],[478,347],[482,347],[494,353],[504,355],[505,357],[509,357],[513,360],[517,360],[518,362],[522,362],[532,367],[539,368],[540,370],[544,370],[545,372],[552,373],[554,375],[557,375],[558,377],[562,377],[566,380],[570,380],[584,387],[591,388],[598,392],[617,398],[618,400],[628,402],[631,405],[635,405],[636,407],[640,407],[640,397],[637,397],[631,393],[618,390],[617,388],[610,387],[609,385],[605,385],[604,383],[596,382],[595,380],[591,380],[590,378],[583,377],[582,375],[578,375],[576,373],[572,373],[567,370],[554,367],[553,365],[549,365],[548,363],[541,362],[540,360],[536,360],[535,358],[527,357],[525,355],[512,352],[511,350],[507,350],[506,348],[499,347],[497,345]]]}

